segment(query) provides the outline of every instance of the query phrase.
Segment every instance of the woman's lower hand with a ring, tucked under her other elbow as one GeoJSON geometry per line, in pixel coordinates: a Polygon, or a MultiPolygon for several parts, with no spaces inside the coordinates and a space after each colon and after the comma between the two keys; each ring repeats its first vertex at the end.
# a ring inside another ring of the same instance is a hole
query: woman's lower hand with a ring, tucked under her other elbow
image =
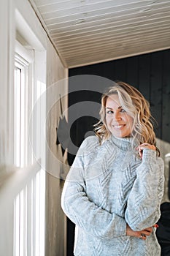
{"type": "MultiPolygon", "coordinates": [[[[157,227],[157,226],[154,225],[153,227],[157,227]]],[[[134,231],[131,229],[131,227],[128,226],[128,224],[126,225],[126,236],[134,236],[136,238],[146,240],[147,236],[150,236],[151,233],[152,233],[152,227],[147,227],[141,231],[134,231]]]]}

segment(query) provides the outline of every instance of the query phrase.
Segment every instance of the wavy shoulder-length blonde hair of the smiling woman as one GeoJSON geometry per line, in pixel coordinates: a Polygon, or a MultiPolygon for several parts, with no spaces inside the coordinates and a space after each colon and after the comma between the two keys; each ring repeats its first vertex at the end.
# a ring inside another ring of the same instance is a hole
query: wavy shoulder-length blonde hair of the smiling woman
{"type": "Polygon", "coordinates": [[[105,106],[107,98],[112,94],[118,95],[122,108],[134,119],[131,136],[137,138],[139,143],[150,143],[156,146],[149,102],[134,86],[122,81],[114,83],[114,86],[109,87],[108,91],[101,97],[101,110],[99,112],[101,118],[95,124],[96,128],[94,129],[101,143],[111,135],[109,129],[107,129],[105,106]]]}

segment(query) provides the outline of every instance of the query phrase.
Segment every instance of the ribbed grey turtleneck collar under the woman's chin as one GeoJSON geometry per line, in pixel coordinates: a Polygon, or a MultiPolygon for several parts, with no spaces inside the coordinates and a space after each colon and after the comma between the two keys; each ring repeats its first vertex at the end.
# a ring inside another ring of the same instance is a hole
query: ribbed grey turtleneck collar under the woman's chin
{"type": "Polygon", "coordinates": [[[137,146],[139,146],[138,140],[132,137],[125,137],[125,138],[117,138],[111,135],[109,139],[115,146],[118,148],[127,151],[127,150],[134,150],[137,146]]]}

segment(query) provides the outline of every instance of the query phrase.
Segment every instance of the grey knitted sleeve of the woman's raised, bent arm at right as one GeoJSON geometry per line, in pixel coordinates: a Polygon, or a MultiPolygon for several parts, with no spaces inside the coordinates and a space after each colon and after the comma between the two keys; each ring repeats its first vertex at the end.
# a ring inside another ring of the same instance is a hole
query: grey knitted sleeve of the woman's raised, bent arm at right
{"type": "Polygon", "coordinates": [[[125,211],[125,220],[132,230],[143,230],[158,222],[163,189],[163,159],[156,156],[156,151],[144,148],[125,211]]]}

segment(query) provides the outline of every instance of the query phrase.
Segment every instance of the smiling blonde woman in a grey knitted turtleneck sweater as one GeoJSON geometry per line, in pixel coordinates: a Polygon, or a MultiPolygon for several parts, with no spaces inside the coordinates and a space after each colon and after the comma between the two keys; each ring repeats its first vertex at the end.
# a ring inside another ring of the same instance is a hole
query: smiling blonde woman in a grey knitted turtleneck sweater
{"type": "Polygon", "coordinates": [[[80,146],[61,206],[76,224],[76,256],[161,255],[155,236],[163,160],[147,100],[117,82],[101,99],[96,136],[80,146]]]}

